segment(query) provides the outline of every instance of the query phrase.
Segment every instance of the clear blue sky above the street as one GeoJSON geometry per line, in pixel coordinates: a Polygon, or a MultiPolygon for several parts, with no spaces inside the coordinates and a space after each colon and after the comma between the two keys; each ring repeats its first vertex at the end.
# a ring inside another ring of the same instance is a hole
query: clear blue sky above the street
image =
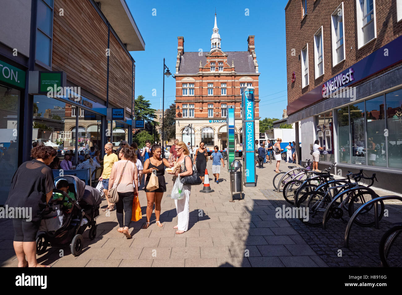
{"type": "MultiPolygon", "coordinates": [[[[184,51],[210,50],[216,4],[205,1],[126,2],[145,41],[145,51],[131,52],[135,60],[135,97],[141,94],[150,100],[152,108],[159,109],[163,58],[170,72],[175,73],[178,36],[184,36],[184,51]],[[156,16],[152,16],[154,8],[156,16]],[[156,89],[156,96],[152,96],[153,89],[156,89]]],[[[222,6],[216,7],[216,14],[222,51],[247,51],[248,35],[255,35],[260,116],[281,119],[287,106],[287,0],[219,3],[222,6]],[[249,16],[245,15],[246,8],[249,16]]],[[[165,108],[174,102],[175,94],[175,80],[165,77],[165,108]]]]}

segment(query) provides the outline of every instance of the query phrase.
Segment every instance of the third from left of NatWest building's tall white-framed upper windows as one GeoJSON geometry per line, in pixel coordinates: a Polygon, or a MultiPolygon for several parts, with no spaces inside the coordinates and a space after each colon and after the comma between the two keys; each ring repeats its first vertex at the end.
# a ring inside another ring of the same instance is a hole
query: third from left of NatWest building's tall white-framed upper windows
{"type": "Polygon", "coordinates": [[[331,16],[332,27],[332,66],[337,65],[345,59],[345,44],[343,25],[343,2],[336,8],[331,16]]]}

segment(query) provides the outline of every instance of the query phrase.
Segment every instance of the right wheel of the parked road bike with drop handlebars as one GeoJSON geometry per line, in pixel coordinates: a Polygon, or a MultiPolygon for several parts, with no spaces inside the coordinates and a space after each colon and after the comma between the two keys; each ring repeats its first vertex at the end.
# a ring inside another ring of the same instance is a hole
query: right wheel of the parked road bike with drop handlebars
{"type": "MultiPolygon", "coordinates": [[[[375,199],[377,195],[372,195],[369,191],[359,190],[353,195],[349,195],[349,216],[352,216],[364,203],[371,199],[375,199]]],[[[378,206],[378,220],[384,216],[384,202],[379,201],[378,206]]],[[[375,224],[374,220],[374,204],[371,204],[364,208],[358,216],[355,218],[355,223],[359,226],[373,226],[375,224]]]]}

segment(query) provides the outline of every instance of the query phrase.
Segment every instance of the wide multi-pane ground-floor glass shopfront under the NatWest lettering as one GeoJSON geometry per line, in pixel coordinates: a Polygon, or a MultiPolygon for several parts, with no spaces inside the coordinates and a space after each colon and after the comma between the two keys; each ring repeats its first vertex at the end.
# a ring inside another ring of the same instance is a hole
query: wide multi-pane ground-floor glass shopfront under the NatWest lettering
{"type": "Polygon", "coordinates": [[[337,110],[340,163],[402,169],[402,89],[337,110]]]}

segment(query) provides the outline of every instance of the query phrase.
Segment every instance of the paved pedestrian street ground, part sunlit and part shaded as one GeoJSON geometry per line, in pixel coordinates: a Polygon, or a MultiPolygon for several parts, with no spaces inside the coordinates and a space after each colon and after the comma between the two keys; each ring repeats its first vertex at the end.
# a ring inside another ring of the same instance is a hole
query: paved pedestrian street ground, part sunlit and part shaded
{"type": "MultiPolygon", "coordinates": [[[[207,163],[211,173],[211,161],[207,163]]],[[[331,220],[328,228],[309,227],[298,219],[278,219],[275,208],[290,205],[282,194],[273,191],[274,164],[256,169],[257,186],[244,188],[242,200],[229,202],[229,173],[222,168],[220,183],[213,183],[213,193],[200,193],[202,185],[193,186],[190,196],[190,226],[184,234],[176,235],[174,200],[168,195],[172,189],[171,175],[165,175],[167,191],[162,200],[159,228],[152,215],[146,222],[146,195],[140,190],[143,218],[131,222],[132,239],[117,232],[115,211],[110,216],[101,212],[97,219],[96,238],[89,240],[84,232],[84,249],[74,257],[69,248],[61,255],[59,248],[48,248],[38,255],[38,261],[54,267],[342,267],[379,266],[378,242],[390,227],[380,221],[380,229],[355,226],[351,232],[350,249],[343,248],[346,224],[331,220]],[[338,249],[343,251],[338,257],[338,249]],[[62,257],[60,257],[62,256],[62,257]]],[[[281,163],[287,171],[287,163],[281,163]]],[[[239,198],[239,194],[234,196],[239,198]]],[[[105,207],[102,202],[101,208],[105,207]]],[[[390,212],[398,214],[401,206],[392,204],[390,212]],[[393,208],[392,208],[393,207],[393,208]]],[[[386,207],[386,208],[389,208],[386,207]]],[[[399,214],[400,215],[400,214],[399,214]]],[[[402,218],[401,218],[402,219],[402,218]]],[[[12,247],[11,220],[0,220],[0,266],[15,267],[12,247]]]]}

